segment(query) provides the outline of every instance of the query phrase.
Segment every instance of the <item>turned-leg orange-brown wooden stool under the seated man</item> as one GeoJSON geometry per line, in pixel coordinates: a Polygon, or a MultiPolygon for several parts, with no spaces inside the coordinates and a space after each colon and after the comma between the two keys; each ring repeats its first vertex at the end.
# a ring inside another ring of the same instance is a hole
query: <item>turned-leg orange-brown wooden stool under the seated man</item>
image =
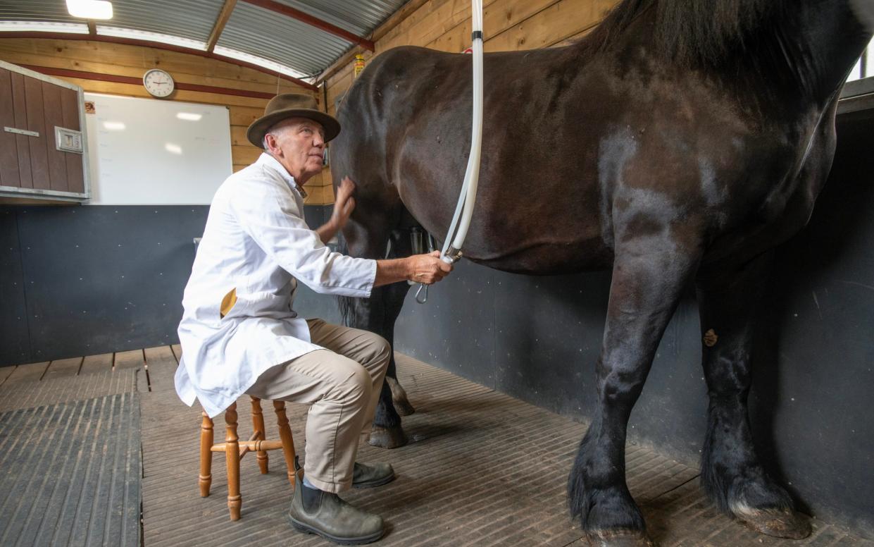
{"type": "Polygon", "coordinates": [[[239,508],[243,505],[243,498],[239,494],[239,460],[248,452],[258,452],[258,466],[261,474],[267,473],[267,451],[282,449],[285,455],[285,463],[288,466],[288,482],[292,489],[295,487],[295,443],[291,438],[291,428],[288,426],[288,417],[285,415],[285,402],[274,401],[276,411],[276,423],[279,424],[279,437],[281,440],[267,440],[264,438],[264,415],[261,413],[261,402],[257,397],[252,397],[252,423],[254,432],[252,438],[240,441],[237,437],[237,403],[233,403],[225,410],[225,424],[227,433],[225,442],[212,444],[212,418],[203,413],[204,421],[200,425],[200,496],[210,494],[212,484],[212,452],[225,452],[227,460],[227,507],[231,510],[231,520],[239,520],[239,508]]]}

